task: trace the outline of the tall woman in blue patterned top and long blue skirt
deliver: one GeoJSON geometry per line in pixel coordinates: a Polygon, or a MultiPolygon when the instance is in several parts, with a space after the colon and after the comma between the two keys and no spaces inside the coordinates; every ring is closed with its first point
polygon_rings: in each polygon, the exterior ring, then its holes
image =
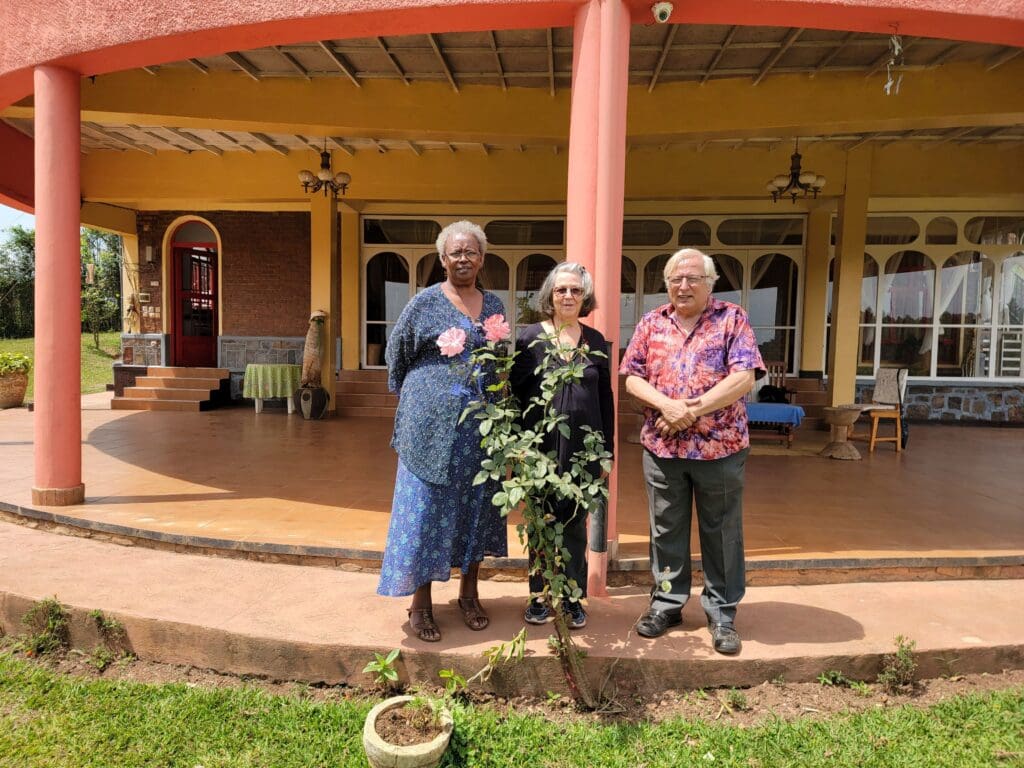
{"type": "Polygon", "coordinates": [[[409,624],[425,642],[441,638],[431,585],[446,582],[453,568],[462,571],[459,609],[466,626],[487,626],[477,571],[484,555],[504,556],[508,549],[505,521],[490,503],[495,488],[473,485],[483,459],[477,422],[459,423],[480,393],[459,362],[485,343],[482,322],[505,311],[501,299],[477,287],[486,250],[486,237],[476,224],[457,221],[441,230],[437,253],[445,280],[406,305],[385,355],[388,386],[398,393],[391,440],[398,474],[377,592],[413,596],[409,624]],[[452,328],[466,335],[465,349],[455,357],[438,345],[452,328]]]}

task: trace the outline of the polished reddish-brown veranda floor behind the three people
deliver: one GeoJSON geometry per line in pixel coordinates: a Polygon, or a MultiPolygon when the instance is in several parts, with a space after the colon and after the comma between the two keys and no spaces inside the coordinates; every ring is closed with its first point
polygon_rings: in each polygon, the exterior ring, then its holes
{"type": "MultiPolygon", "coordinates": [[[[371,557],[382,549],[395,473],[389,419],[109,408],[109,395],[83,397],[86,504],[41,511],[171,541],[371,557]]],[[[868,455],[861,443],[860,462],[818,458],[824,439],[798,432],[788,451],[756,443],[746,470],[750,561],[1024,562],[1024,430],[912,425],[906,452],[887,444],[868,455]]],[[[32,507],[32,440],[29,411],[0,412],[0,503],[8,510],[32,507]]],[[[620,558],[643,557],[637,445],[621,445],[618,478],[620,558]]],[[[511,524],[509,541],[517,556],[511,524]]]]}

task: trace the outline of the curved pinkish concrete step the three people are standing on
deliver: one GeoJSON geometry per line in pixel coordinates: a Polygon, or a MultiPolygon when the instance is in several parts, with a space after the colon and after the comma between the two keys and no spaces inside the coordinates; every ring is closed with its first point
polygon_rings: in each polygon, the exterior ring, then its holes
{"type": "MultiPolygon", "coordinates": [[[[422,643],[407,633],[408,598],[378,597],[376,584],[375,574],[343,568],[175,554],[0,523],[0,624],[11,634],[33,601],[56,596],[73,608],[73,637],[82,647],[95,642],[87,613],[98,608],[124,623],[142,658],[366,685],[361,670],[375,650],[400,648],[407,680],[436,683],[441,668],[475,671],[483,649],[523,626],[521,583],[482,583],[492,625],[471,632],[459,617],[453,581],[434,591],[443,640],[422,643]]],[[[807,681],[825,670],[872,679],[896,635],[916,641],[924,676],[1024,667],[1021,581],[752,588],[737,621],[744,641],[738,657],[712,651],[697,600],[682,627],[645,640],[632,632],[645,591],[611,592],[591,601],[590,624],[577,637],[594,680],[614,665],[620,697],[753,685],[779,675],[807,681]]],[[[549,634],[530,628],[527,657],[494,677],[497,689],[564,690],[547,650],[549,634]]]]}

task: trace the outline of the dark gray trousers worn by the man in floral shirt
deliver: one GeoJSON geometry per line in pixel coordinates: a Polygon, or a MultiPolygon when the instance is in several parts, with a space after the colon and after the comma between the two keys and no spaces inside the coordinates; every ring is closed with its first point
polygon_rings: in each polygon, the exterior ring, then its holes
{"type": "Polygon", "coordinates": [[[724,459],[659,459],[643,453],[650,511],[650,606],[678,611],[690,596],[690,523],[697,508],[708,621],[732,624],[743,598],[743,470],[750,449],[724,459]],[[668,584],[666,584],[668,583],[668,584]],[[668,588],[668,589],[666,589],[668,588]]]}

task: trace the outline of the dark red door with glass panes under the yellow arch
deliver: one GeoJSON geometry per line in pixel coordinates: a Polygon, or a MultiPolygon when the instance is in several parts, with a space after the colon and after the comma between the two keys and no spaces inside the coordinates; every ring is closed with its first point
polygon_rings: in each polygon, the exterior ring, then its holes
{"type": "Polygon", "coordinates": [[[174,248],[174,365],[217,365],[217,254],[213,246],[174,248]]]}

